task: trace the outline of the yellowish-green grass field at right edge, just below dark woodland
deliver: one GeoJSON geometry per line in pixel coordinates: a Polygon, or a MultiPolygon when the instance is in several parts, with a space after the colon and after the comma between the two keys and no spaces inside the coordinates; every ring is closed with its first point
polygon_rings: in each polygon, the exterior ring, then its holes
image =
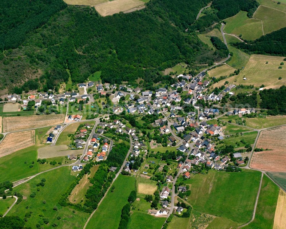
{"type": "Polygon", "coordinates": [[[269,128],[272,126],[278,126],[286,123],[286,116],[266,116],[258,117],[258,118],[245,118],[246,125],[255,128],[255,129],[263,129],[269,128]]]}

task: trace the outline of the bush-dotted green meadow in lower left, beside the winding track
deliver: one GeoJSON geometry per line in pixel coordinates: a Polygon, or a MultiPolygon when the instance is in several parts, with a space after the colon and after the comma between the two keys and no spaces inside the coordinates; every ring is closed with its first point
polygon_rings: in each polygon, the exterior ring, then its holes
{"type": "Polygon", "coordinates": [[[59,169],[49,171],[38,177],[35,177],[31,181],[17,186],[14,190],[20,192],[24,199],[18,205],[15,205],[8,215],[17,214],[20,218],[24,218],[27,212],[32,212],[31,217],[25,222],[26,227],[35,228],[35,225],[39,222],[43,214],[44,217],[48,218],[48,228],[52,228],[52,224],[56,223],[58,228],[83,228],[85,221],[88,218],[87,213],[76,211],[73,213],[73,209],[68,207],[61,207],[58,201],[75,177],[70,175],[70,167],[65,166],[59,169]],[[45,178],[45,186],[40,186],[40,191],[37,191],[36,184],[45,178]],[[35,197],[30,197],[30,194],[35,192],[35,197]],[[43,203],[45,201],[45,203],[43,203]],[[26,208],[28,206],[28,208],[26,208]],[[57,207],[57,211],[53,210],[57,207]],[[61,219],[57,220],[57,216],[61,219]]]}

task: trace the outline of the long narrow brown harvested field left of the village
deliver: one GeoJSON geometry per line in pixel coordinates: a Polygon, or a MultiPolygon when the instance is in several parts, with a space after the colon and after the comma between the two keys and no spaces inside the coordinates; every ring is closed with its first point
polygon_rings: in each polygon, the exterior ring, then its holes
{"type": "Polygon", "coordinates": [[[33,129],[62,123],[63,114],[14,116],[3,118],[3,132],[33,129]]]}

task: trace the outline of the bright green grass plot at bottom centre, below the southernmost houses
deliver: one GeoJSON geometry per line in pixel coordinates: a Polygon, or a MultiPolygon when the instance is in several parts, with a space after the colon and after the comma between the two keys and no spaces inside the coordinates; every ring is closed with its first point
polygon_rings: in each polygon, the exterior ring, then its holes
{"type": "MultiPolygon", "coordinates": [[[[128,223],[128,229],[160,229],[166,218],[154,217],[141,212],[133,212],[128,223]]],[[[110,228],[115,229],[115,228],[110,228]]]]}

